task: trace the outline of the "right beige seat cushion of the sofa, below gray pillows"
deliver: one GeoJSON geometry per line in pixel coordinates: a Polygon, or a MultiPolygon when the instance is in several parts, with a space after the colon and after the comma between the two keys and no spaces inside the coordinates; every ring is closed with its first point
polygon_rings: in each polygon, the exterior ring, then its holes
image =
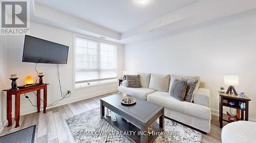
{"type": "Polygon", "coordinates": [[[147,101],[154,102],[166,108],[176,110],[197,118],[205,120],[211,119],[209,107],[186,101],[179,101],[166,92],[156,91],[155,93],[149,94],[147,95],[147,101]]]}

